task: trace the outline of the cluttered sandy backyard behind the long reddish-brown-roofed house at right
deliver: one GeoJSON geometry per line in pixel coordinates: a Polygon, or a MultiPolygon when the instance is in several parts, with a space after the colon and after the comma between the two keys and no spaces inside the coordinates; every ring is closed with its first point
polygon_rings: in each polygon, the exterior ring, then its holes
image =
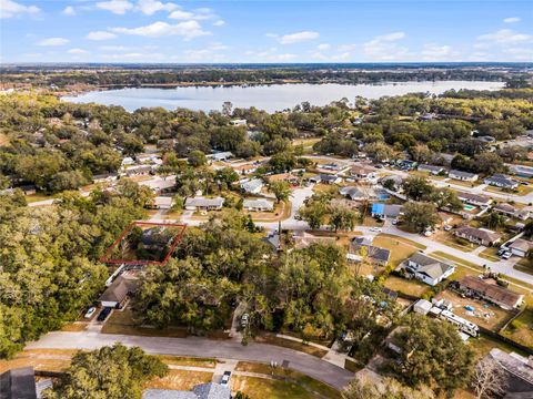
{"type": "Polygon", "coordinates": [[[462,298],[449,290],[439,294],[436,298],[450,300],[453,304],[455,315],[495,332],[513,317],[512,311],[504,310],[496,305],[489,304],[485,300],[462,298]],[[464,308],[465,306],[472,306],[475,310],[469,311],[464,308]]]}

